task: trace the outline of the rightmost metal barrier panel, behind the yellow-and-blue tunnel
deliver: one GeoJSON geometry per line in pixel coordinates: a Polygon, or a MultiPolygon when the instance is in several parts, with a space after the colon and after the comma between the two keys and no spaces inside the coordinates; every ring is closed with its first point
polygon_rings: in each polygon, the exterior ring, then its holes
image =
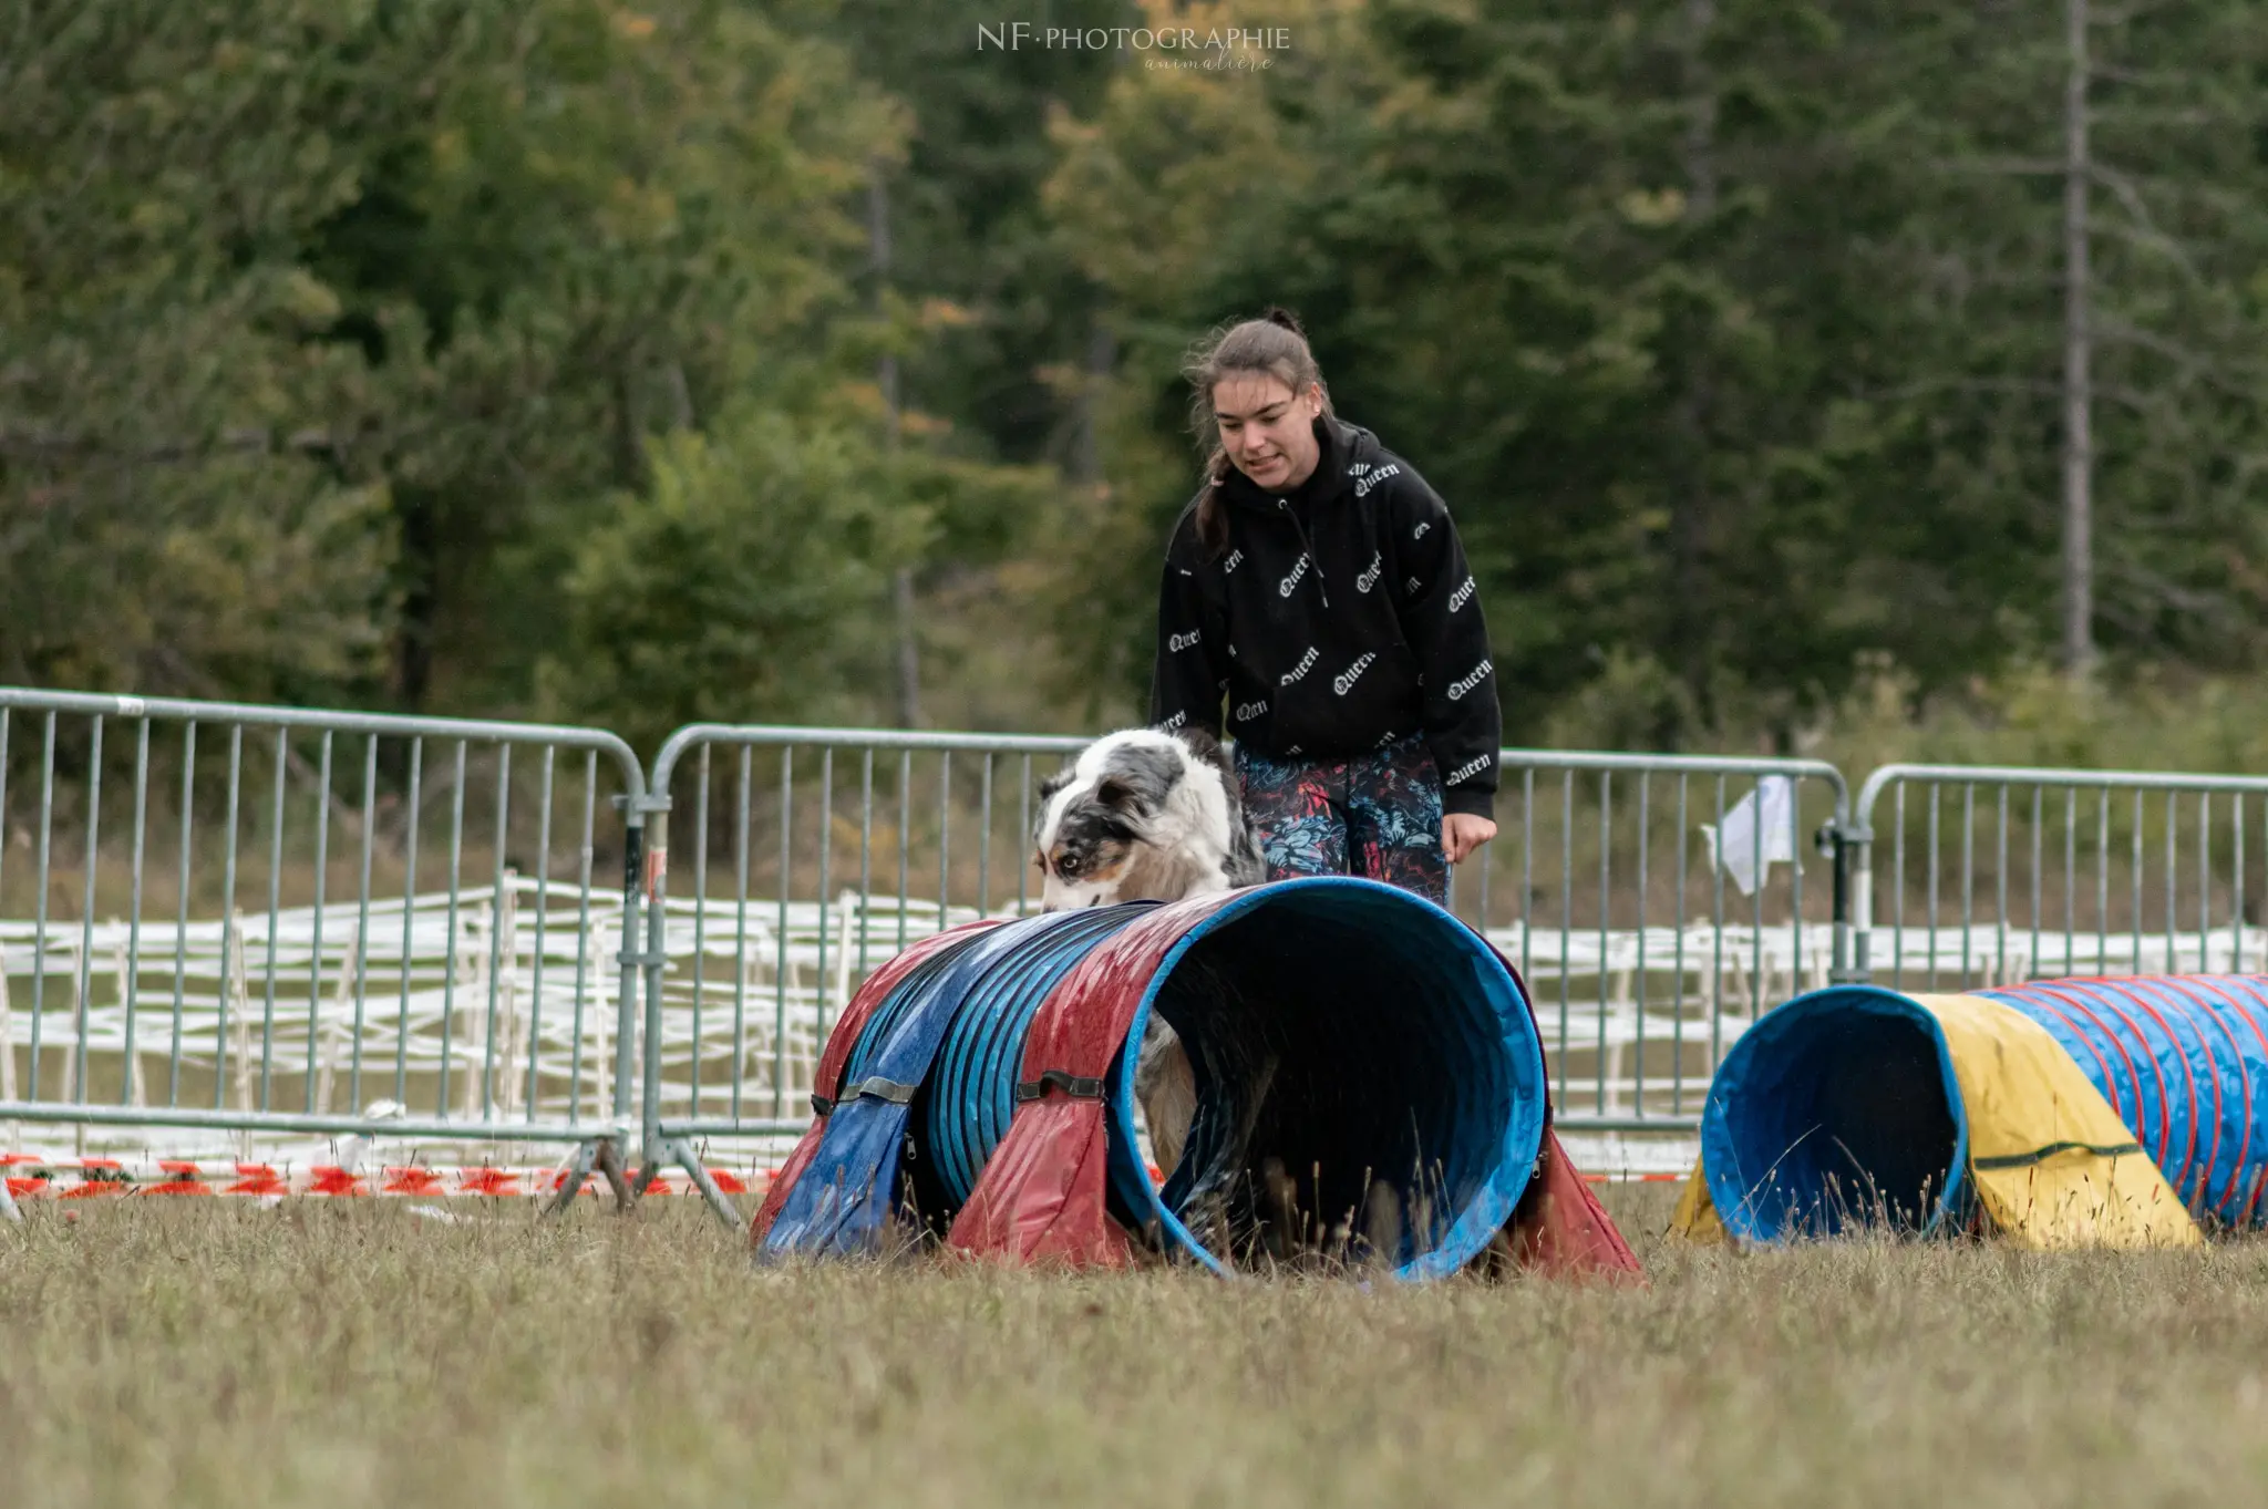
{"type": "Polygon", "coordinates": [[[1855,963],[1916,990],[2268,967],[2248,813],[2268,825],[2268,779],[1882,766],[1851,832],[1855,963]]]}

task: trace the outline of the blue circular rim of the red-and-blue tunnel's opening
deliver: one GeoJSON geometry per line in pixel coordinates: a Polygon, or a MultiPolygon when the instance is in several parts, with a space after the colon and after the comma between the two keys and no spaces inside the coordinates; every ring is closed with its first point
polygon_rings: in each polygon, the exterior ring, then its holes
{"type": "MultiPolygon", "coordinates": [[[[1399,886],[1388,886],[1356,875],[1304,875],[1297,879],[1268,881],[1266,886],[1238,890],[1234,893],[1234,900],[1193,922],[1188,931],[1173,940],[1173,947],[1157,961],[1157,967],[1150,970],[1150,979],[1143,983],[1141,999],[1134,1004],[1134,1015],[1127,1022],[1127,1035],[1118,1051],[1116,1081],[1109,1094],[1114,1140],[1129,1149],[1139,1146],[1134,1128],[1134,1072],[1141,1060],[1143,1033],[1150,1026],[1150,1011],[1175,967],[1202,938],[1261,906],[1279,904],[1281,897],[1295,890],[1383,893],[1393,897],[1393,904],[1397,906],[1415,906],[1420,915],[1427,915],[1433,924],[1447,924],[1442,936],[1454,940],[1463,954],[1479,965],[1479,974],[1486,983],[1497,986],[1501,981],[1501,990],[1488,990],[1488,999],[1495,1006],[1499,1029],[1495,1033],[1495,1042],[1504,1045],[1513,1060],[1508,1065],[1513,1115],[1506,1119],[1497,1146],[1499,1156],[1495,1171],[1481,1183],[1472,1199],[1465,1201],[1465,1208],[1456,1212],[1456,1219],[1447,1226],[1433,1248],[1417,1253],[1390,1271],[1393,1278],[1406,1282],[1447,1278],[1476,1258],[1488,1246],[1490,1237],[1495,1237],[1504,1224],[1513,1219],[1513,1208],[1526,1192],[1529,1180],[1535,1174],[1535,1160],[1542,1156],[1542,1140],[1549,1119],[1545,1112],[1549,1074],[1545,1067],[1542,1031],[1535,1026],[1535,1013],[1520,977],[1504,963],[1504,956],[1497,954],[1483,936],[1465,924],[1463,918],[1413,890],[1402,890],[1399,886]],[[1522,1083],[1522,1079],[1526,1079],[1526,1083],[1522,1083]],[[1522,1090],[1533,1090],[1533,1094],[1522,1094],[1522,1090]]],[[[1220,1258],[1216,1258],[1195,1237],[1195,1233],[1182,1224],[1182,1217],[1177,1217],[1159,1199],[1161,1192],[1150,1183],[1148,1171],[1139,1185],[1143,1205],[1136,1210],[1136,1217],[1157,1221],[1168,1237],[1168,1246],[1188,1253],[1211,1273],[1222,1278],[1238,1276],[1236,1269],[1220,1262],[1220,1258]]]]}

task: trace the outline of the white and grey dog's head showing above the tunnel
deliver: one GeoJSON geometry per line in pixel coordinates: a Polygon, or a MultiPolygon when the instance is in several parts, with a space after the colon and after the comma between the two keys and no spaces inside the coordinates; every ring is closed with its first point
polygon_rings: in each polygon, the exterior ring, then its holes
{"type": "Polygon", "coordinates": [[[1243,813],[1220,745],[1136,727],[1107,734],[1039,788],[1043,911],[1179,900],[1225,884],[1243,813]]]}

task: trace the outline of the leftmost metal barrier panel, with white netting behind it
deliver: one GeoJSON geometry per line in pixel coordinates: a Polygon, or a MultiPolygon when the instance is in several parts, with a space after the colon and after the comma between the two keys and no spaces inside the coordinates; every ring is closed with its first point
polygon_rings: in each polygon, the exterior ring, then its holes
{"type": "Polygon", "coordinates": [[[0,1128],[619,1178],[644,795],[599,730],[0,689],[0,1128]]]}

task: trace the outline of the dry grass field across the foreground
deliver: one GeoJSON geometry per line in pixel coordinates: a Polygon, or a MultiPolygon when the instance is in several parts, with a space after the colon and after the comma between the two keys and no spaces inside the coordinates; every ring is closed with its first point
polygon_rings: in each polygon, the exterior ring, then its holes
{"type": "Polygon", "coordinates": [[[0,1502],[2139,1504],[2268,1482],[2268,1244],[1662,1246],[1644,1291],[760,1273],[689,1203],[0,1228],[0,1502]]]}

